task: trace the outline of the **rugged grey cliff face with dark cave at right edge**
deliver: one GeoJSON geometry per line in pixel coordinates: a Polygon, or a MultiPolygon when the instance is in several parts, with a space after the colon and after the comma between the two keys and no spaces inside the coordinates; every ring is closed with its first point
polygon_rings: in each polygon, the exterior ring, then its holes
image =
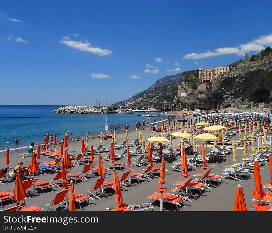
{"type": "Polygon", "coordinates": [[[270,103],[272,54],[239,63],[231,72],[220,75],[218,81],[218,86],[212,90],[215,100],[270,103]]]}

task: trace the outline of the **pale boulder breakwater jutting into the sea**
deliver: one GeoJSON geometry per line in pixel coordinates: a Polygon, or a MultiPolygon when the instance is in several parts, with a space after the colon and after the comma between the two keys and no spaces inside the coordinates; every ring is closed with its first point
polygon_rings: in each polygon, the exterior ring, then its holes
{"type": "Polygon", "coordinates": [[[92,106],[66,106],[57,108],[55,113],[72,113],[72,114],[91,114],[91,113],[106,113],[92,106]]]}

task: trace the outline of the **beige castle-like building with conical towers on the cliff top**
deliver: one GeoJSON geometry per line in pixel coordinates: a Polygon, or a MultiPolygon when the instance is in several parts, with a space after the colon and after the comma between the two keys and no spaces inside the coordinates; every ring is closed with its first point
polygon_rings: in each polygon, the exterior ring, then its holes
{"type": "Polygon", "coordinates": [[[218,78],[221,74],[229,72],[230,66],[211,67],[210,69],[202,69],[199,67],[199,82],[210,83],[213,78],[218,78]]]}

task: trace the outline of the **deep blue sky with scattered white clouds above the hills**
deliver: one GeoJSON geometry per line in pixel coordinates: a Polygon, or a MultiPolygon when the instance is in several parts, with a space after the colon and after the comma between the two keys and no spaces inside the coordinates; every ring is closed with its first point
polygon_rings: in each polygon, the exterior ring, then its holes
{"type": "Polygon", "coordinates": [[[114,104],[272,46],[270,1],[5,1],[0,104],[114,104]],[[217,13],[217,12],[220,13],[217,13]]]}

